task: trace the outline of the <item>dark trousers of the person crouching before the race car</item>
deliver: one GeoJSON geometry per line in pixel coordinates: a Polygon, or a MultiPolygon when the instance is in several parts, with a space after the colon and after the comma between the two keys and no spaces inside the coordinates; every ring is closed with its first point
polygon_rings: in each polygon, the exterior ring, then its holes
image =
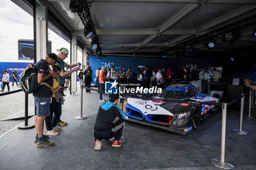
{"type": "Polygon", "coordinates": [[[108,140],[111,138],[115,138],[115,141],[118,141],[121,138],[121,134],[123,133],[124,130],[124,125],[125,122],[123,119],[119,119],[118,121],[116,121],[116,123],[113,123],[113,128],[110,131],[106,131],[106,132],[97,132],[94,131],[94,138],[95,141],[96,139],[102,140],[108,140]]]}

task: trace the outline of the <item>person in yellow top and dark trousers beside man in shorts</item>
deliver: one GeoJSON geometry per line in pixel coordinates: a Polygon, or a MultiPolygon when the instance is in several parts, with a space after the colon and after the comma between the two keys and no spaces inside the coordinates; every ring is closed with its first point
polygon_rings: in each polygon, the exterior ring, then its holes
{"type": "Polygon", "coordinates": [[[45,118],[47,135],[50,136],[56,136],[59,134],[58,131],[61,131],[61,127],[57,125],[61,116],[61,104],[63,104],[63,97],[60,93],[61,86],[57,78],[60,72],[61,68],[59,66],[53,66],[53,87],[50,89],[53,93],[53,98],[50,103],[50,115],[45,118]]]}

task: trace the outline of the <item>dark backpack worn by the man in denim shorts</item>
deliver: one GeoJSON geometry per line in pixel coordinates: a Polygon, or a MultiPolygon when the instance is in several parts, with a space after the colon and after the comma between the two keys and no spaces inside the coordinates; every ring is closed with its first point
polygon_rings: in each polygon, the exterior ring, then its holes
{"type": "Polygon", "coordinates": [[[34,93],[39,89],[39,85],[46,85],[51,88],[46,82],[37,83],[36,66],[29,63],[29,66],[20,74],[20,87],[25,93],[34,93]]]}

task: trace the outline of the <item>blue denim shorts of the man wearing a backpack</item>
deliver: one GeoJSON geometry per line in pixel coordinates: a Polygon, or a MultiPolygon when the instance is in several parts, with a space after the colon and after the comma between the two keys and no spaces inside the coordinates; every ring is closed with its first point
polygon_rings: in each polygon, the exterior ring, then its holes
{"type": "Polygon", "coordinates": [[[36,112],[38,117],[50,116],[50,100],[51,97],[34,96],[36,102],[36,112]]]}

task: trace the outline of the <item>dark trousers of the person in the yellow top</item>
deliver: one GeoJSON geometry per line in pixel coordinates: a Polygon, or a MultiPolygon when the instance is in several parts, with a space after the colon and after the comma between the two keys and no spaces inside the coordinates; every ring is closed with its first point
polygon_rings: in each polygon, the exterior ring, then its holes
{"type": "Polygon", "coordinates": [[[57,123],[59,123],[60,117],[61,117],[61,104],[57,103],[56,99],[53,98],[50,104],[50,116],[46,117],[45,119],[46,129],[48,131],[52,130],[57,125],[57,123]]]}

